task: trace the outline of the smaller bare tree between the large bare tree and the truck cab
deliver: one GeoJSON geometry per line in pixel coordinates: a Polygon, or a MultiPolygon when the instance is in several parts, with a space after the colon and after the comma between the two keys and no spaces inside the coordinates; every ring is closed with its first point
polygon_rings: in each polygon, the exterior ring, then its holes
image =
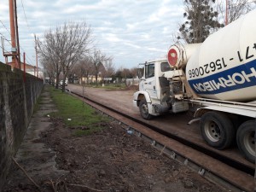
{"type": "Polygon", "coordinates": [[[91,61],[95,69],[96,85],[98,85],[98,75],[100,72],[105,70],[103,63],[111,60],[107,55],[102,54],[102,51],[99,49],[94,49],[93,54],[91,55],[91,61]]]}

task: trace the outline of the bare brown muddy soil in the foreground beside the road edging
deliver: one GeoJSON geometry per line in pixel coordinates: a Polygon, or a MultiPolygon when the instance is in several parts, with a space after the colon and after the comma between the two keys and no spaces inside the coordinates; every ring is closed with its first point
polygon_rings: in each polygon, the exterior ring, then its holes
{"type": "MultiPolygon", "coordinates": [[[[38,142],[55,151],[57,168],[68,172],[58,178],[32,177],[41,191],[226,191],[115,122],[102,124],[103,131],[90,136],[75,137],[73,131],[86,128],[69,128],[61,119],[49,120],[52,124],[38,142]]],[[[3,191],[38,190],[14,165],[3,191]]]]}

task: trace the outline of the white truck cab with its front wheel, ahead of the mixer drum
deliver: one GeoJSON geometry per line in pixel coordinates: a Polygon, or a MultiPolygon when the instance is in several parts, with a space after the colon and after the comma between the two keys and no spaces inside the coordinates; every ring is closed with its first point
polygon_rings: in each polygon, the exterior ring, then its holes
{"type": "Polygon", "coordinates": [[[139,107],[143,119],[189,110],[188,102],[182,100],[186,95],[183,77],[183,71],[170,67],[166,58],[143,64],[139,91],[133,95],[134,106],[139,107]]]}

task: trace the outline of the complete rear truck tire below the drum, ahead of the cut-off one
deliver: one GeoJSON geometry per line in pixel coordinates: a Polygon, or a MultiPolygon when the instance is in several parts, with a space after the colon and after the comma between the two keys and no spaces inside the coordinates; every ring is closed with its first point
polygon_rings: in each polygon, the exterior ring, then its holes
{"type": "Polygon", "coordinates": [[[234,125],[225,113],[204,113],[200,126],[201,136],[213,148],[228,148],[236,137],[234,125]]]}

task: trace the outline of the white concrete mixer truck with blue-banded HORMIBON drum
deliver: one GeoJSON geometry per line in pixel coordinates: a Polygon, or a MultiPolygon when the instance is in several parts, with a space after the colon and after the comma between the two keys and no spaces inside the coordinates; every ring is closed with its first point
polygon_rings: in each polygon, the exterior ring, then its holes
{"type": "Polygon", "coordinates": [[[143,63],[133,95],[143,119],[194,110],[212,147],[236,140],[255,161],[256,10],[210,35],[202,44],[174,44],[166,58],[143,63]]]}

